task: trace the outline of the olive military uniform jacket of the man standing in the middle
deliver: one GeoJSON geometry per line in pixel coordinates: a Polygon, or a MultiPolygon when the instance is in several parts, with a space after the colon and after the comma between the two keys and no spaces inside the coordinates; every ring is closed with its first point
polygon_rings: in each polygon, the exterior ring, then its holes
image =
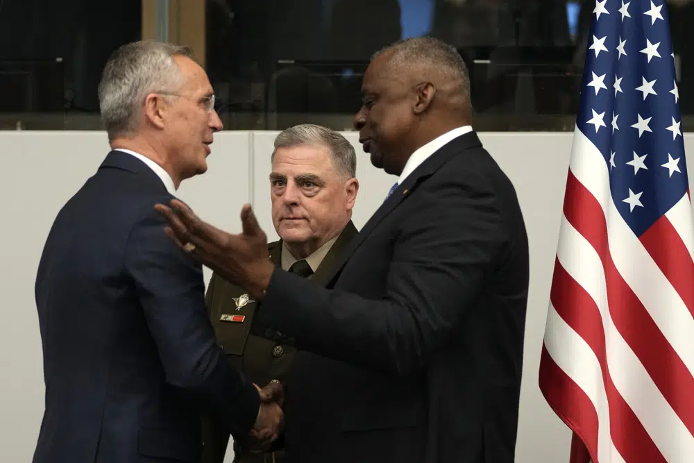
{"type": "MultiPolygon", "coordinates": [[[[357,228],[350,221],[332,244],[330,251],[325,254],[319,267],[310,276],[314,285],[325,286],[328,283],[328,278],[341,258],[342,251],[356,235],[357,228]]],[[[268,244],[268,251],[273,264],[281,268],[282,240],[268,244]]],[[[278,335],[270,332],[267,337],[264,337],[251,330],[258,305],[251,299],[238,308],[235,298],[239,298],[244,293],[241,287],[223,280],[217,273],[212,275],[206,298],[214,334],[233,367],[243,371],[249,380],[259,386],[264,386],[273,379],[279,380],[285,387],[286,394],[289,391],[287,378],[296,349],[291,344],[292,340],[283,338],[281,333],[278,335]],[[234,321],[235,319],[231,318],[233,315],[244,317],[244,319],[234,321]]],[[[228,432],[215,426],[214,422],[206,416],[203,417],[203,441],[205,448],[202,463],[222,463],[229,441],[228,432]]],[[[267,455],[267,460],[281,461],[284,456],[283,448],[284,439],[280,436],[272,449],[274,455],[267,455]]],[[[264,455],[244,455],[243,458],[239,458],[240,453],[238,446],[235,446],[235,460],[242,463],[264,462],[266,459],[264,455]]]]}

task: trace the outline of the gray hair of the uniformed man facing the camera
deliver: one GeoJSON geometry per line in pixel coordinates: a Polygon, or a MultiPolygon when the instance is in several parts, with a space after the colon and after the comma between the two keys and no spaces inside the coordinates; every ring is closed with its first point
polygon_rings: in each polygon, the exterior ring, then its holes
{"type": "Polygon", "coordinates": [[[275,138],[275,149],[270,160],[275,159],[278,148],[291,148],[303,144],[325,146],[330,150],[330,160],[340,176],[357,175],[357,153],[354,146],[339,132],[315,124],[299,124],[280,132],[275,138]]]}

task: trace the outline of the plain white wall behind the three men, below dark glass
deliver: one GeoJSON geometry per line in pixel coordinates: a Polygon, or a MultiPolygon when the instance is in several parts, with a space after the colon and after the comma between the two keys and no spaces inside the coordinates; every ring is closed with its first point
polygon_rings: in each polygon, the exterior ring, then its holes
{"type": "MultiPolygon", "coordinates": [[[[269,155],[274,132],[231,132],[215,137],[209,170],[179,190],[212,224],[239,232],[239,211],[253,203],[260,224],[275,239],[269,214],[269,155]]],[[[374,169],[357,143],[359,196],[354,221],[361,228],[396,178],[374,169]]],[[[555,259],[559,218],[572,142],[570,133],[482,133],[482,142],[513,180],[530,239],[530,295],[525,335],[516,461],[565,463],[570,432],[537,386],[539,355],[555,259]]],[[[686,135],[688,152],[694,135],[686,135]]],[[[58,209],[108,152],[100,132],[0,132],[3,201],[0,235],[0,461],[30,462],[43,410],[41,339],[33,284],[44,239],[58,209]]],[[[691,164],[691,162],[690,162],[691,164]]],[[[690,167],[690,176],[694,169],[690,167]]],[[[210,272],[206,271],[206,278],[210,272]]],[[[231,462],[231,453],[227,462],[231,462]]]]}

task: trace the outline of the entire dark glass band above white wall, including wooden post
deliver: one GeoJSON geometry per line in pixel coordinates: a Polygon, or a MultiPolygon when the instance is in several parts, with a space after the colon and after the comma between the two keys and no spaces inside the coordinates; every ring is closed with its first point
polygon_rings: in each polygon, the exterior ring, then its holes
{"type": "MultiPolygon", "coordinates": [[[[0,7],[0,128],[101,128],[108,54],[140,38],[189,45],[226,129],[346,130],[371,55],[433,35],[468,65],[480,131],[572,131],[595,0],[23,0],[0,7]]],[[[694,2],[671,0],[682,126],[694,126],[694,2]]]]}

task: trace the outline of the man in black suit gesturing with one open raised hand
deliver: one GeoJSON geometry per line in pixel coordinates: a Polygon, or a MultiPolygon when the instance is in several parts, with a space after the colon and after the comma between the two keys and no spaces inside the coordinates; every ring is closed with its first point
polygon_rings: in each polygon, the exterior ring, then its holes
{"type": "Polygon", "coordinates": [[[371,60],[362,94],[364,151],[398,180],[325,287],[273,267],[248,206],[230,235],[158,205],[167,233],[259,301],[259,330],[295,339],[289,462],[512,463],[527,234],[473,131],[464,62],[439,40],[398,42],[371,60]]]}

